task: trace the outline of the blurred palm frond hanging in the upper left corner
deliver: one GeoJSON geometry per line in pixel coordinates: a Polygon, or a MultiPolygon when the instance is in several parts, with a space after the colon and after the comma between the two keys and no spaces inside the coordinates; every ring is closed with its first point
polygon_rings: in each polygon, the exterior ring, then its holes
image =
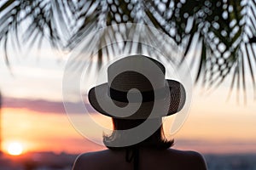
{"type": "Polygon", "coordinates": [[[70,4],[61,0],[3,0],[0,3],[0,42],[7,43],[8,37],[15,32],[19,47],[20,39],[22,43],[30,42],[32,45],[47,38],[52,47],[64,48],[70,37],[67,26],[68,15],[72,14],[70,4]],[[25,27],[25,31],[22,32],[20,27],[25,27]]]}

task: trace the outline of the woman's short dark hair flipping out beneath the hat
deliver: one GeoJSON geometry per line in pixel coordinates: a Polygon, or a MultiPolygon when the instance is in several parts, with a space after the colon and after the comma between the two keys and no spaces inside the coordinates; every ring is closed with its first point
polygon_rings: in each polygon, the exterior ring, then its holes
{"type": "MultiPolygon", "coordinates": [[[[126,120],[126,119],[112,118],[112,121],[113,121],[113,130],[127,130],[133,127],[139,126],[146,120],[144,119],[126,120]]],[[[139,142],[138,144],[133,144],[131,146],[126,146],[126,147],[113,147],[112,146],[113,143],[118,142],[118,140],[122,138],[119,135],[116,135],[116,133],[114,132],[110,136],[103,135],[103,143],[108,147],[108,149],[111,149],[111,150],[131,148],[134,146],[149,147],[149,148],[155,148],[155,149],[170,148],[173,145],[174,140],[173,139],[167,140],[165,138],[161,118],[154,119],[154,120],[151,119],[149,121],[151,121],[152,123],[160,123],[160,127],[147,139],[144,139],[142,142],[139,142]]]]}

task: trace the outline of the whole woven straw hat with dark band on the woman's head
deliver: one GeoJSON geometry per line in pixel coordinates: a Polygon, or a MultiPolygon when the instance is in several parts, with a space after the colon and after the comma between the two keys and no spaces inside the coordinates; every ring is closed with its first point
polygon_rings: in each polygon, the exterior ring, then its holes
{"type": "Polygon", "coordinates": [[[180,82],[165,79],[166,69],[156,59],[132,55],[108,67],[108,82],[90,88],[90,105],[105,116],[147,119],[181,111],[186,100],[180,82]]]}

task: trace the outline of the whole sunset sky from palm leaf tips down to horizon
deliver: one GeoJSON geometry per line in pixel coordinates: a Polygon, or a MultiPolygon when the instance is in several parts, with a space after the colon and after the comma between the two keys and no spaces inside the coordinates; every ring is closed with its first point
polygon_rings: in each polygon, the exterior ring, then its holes
{"type": "MultiPolygon", "coordinates": [[[[3,57],[0,59],[3,150],[12,141],[23,144],[25,151],[81,153],[104,148],[85,139],[63,108],[62,76],[67,56],[49,48],[42,48],[40,56],[36,50],[29,54],[12,51],[10,69],[3,57]]],[[[175,148],[202,153],[256,153],[253,89],[247,88],[246,105],[242,100],[236,102],[236,91],[226,101],[229,80],[212,94],[202,94],[201,86],[193,88],[189,116],[172,136],[175,148]]],[[[106,122],[104,116],[93,116],[106,122]]]]}

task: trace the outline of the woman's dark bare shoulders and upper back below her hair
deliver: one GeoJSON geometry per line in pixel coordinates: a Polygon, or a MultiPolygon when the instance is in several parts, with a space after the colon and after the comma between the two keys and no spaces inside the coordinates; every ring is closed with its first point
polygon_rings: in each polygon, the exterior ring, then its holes
{"type": "MultiPolygon", "coordinates": [[[[125,150],[102,150],[80,155],[73,170],[133,170],[134,160],[125,160],[125,150]]],[[[206,170],[203,157],[195,151],[140,149],[140,170],[206,170]]]]}

